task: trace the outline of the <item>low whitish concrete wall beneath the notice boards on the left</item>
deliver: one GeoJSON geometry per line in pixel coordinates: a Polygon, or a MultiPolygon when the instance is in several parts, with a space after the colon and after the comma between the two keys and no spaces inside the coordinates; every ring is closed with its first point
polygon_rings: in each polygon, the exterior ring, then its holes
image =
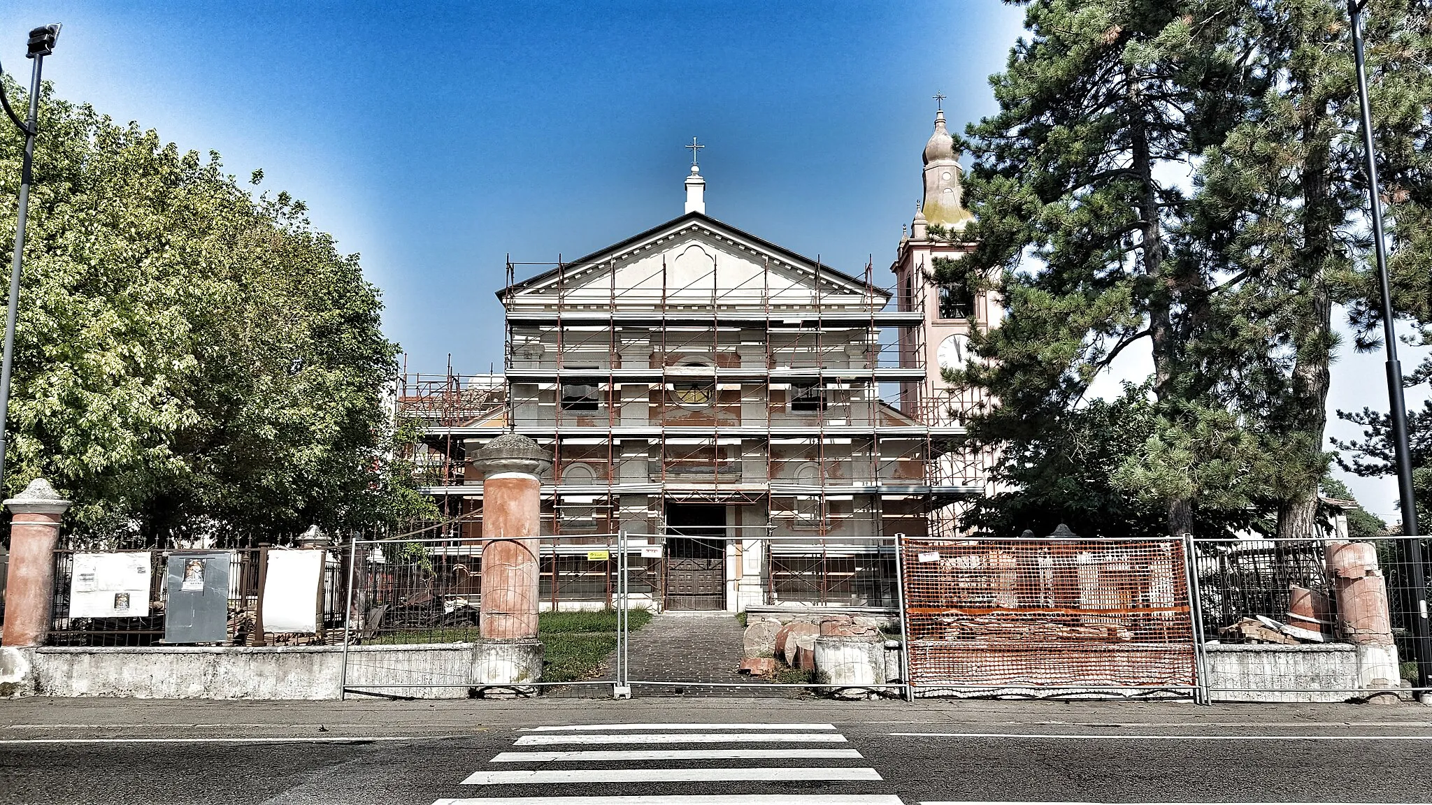
{"type": "MultiPolygon", "coordinates": [[[[490,646],[349,646],[348,688],[418,699],[465,699],[473,688],[507,683],[511,669],[523,682],[540,678],[540,643],[536,650],[513,643],[490,646]],[[407,688],[424,683],[442,686],[407,688]]],[[[0,649],[0,695],[337,699],[342,667],[342,646],[0,649]]]]}

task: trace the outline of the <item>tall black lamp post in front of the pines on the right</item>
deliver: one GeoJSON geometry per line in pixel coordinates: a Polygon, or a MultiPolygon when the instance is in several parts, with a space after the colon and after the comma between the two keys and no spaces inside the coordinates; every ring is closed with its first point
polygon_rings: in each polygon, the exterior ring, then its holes
{"type": "Polygon", "coordinates": [[[1348,0],[1352,17],[1352,49],[1358,66],[1358,100],[1362,106],[1362,149],[1368,160],[1368,196],[1372,206],[1372,241],[1378,258],[1378,285],[1382,291],[1382,341],[1388,350],[1388,398],[1392,408],[1392,445],[1398,463],[1398,497],[1402,503],[1402,533],[1406,540],[1412,582],[1412,637],[1416,646],[1418,688],[1432,676],[1432,630],[1428,629],[1428,582],[1422,566],[1422,531],[1412,497],[1412,455],[1408,445],[1408,405],[1402,394],[1402,364],[1398,362],[1398,337],[1392,329],[1392,288],[1388,284],[1388,246],[1382,233],[1382,191],[1378,188],[1378,160],[1372,152],[1372,105],[1368,103],[1368,69],[1362,56],[1362,10],[1368,0],[1348,0]]]}

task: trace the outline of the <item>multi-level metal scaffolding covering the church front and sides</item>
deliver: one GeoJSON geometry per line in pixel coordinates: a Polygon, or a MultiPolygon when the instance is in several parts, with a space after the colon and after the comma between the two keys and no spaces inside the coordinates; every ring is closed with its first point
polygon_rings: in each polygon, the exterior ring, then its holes
{"type": "MultiPolygon", "coordinates": [[[[955,533],[987,460],[951,447],[964,433],[951,413],[978,403],[931,390],[922,295],[879,288],[869,262],[853,276],[818,258],[792,282],[789,262],[753,255],[723,274],[722,256],[700,272],[666,255],[640,269],[630,255],[508,261],[503,374],[398,384],[400,418],[422,423],[415,464],[442,536],[481,534],[465,455],[504,428],[551,448],[543,533],[577,543],[666,533],[673,503],[725,504],[727,529],[829,537],[846,556],[856,534],[955,533]]],[[[792,574],[869,564],[812,550],[823,559],[762,561],[762,586],[779,566],[783,587],[826,596],[829,579],[792,574]]]]}

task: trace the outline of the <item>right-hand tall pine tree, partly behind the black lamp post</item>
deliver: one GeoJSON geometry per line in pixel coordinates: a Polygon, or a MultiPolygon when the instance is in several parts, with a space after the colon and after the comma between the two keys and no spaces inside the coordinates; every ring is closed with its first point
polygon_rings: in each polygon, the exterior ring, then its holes
{"type": "MultiPolygon", "coordinates": [[[[1346,6],[1333,0],[1266,0],[1250,7],[1256,21],[1237,34],[1260,54],[1272,85],[1206,155],[1201,232],[1242,281],[1217,299],[1217,329],[1250,354],[1264,344],[1264,371],[1240,388],[1240,405],[1259,421],[1266,451],[1277,458],[1266,466],[1277,533],[1307,537],[1319,531],[1317,490],[1329,463],[1326,403],[1339,347],[1333,307],[1349,307],[1363,347],[1375,341],[1366,334],[1380,319],[1352,36],[1346,6]]],[[[1416,185],[1428,166],[1421,148],[1432,105],[1428,16],[1412,3],[1376,3],[1370,14],[1373,130],[1379,150],[1388,152],[1385,175],[1396,188],[1389,221],[1403,235],[1395,259],[1402,274],[1399,302],[1411,302],[1422,317],[1429,262],[1421,223],[1428,219],[1428,195],[1402,188],[1416,185]],[[1423,278],[1421,301],[1412,288],[1416,276],[1423,278]]]]}

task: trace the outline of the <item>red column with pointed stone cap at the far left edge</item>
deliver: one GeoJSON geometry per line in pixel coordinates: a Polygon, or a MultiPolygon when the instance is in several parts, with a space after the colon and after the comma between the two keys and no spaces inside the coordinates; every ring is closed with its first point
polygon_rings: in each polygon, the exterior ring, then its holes
{"type": "Polygon", "coordinates": [[[54,603],[54,546],[60,517],[70,507],[44,478],[34,478],[10,510],[10,572],[6,577],[4,635],[7,647],[43,646],[54,603]]]}

